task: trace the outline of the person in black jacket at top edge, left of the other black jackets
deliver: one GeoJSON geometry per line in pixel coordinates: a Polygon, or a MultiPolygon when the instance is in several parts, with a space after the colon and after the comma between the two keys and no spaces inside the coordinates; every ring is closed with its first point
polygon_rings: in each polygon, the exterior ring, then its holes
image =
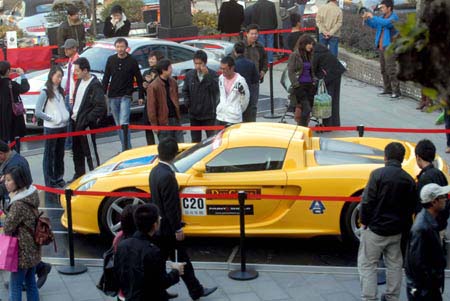
{"type": "MultiPolygon", "coordinates": [[[[244,22],[244,7],[236,0],[223,2],[220,6],[217,29],[221,33],[238,33],[244,22]]],[[[239,37],[226,37],[226,40],[237,41],[239,37]]]]}

